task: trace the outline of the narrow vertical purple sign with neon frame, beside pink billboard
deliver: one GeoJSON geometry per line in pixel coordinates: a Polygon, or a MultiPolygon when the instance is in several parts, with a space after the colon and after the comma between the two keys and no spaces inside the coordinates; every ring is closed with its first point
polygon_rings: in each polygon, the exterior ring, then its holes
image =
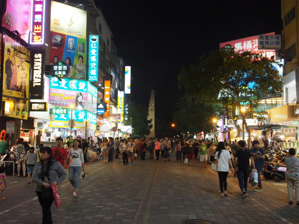
{"type": "Polygon", "coordinates": [[[30,44],[43,44],[45,33],[45,0],[32,0],[30,44]]]}

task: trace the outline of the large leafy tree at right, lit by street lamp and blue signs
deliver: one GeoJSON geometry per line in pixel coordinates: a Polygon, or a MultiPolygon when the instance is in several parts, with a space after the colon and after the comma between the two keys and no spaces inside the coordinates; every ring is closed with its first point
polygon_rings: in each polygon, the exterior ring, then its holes
{"type": "Polygon", "coordinates": [[[223,47],[202,56],[197,65],[183,67],[178,76],[179,87],[184,86],[186,95],[199,102],[237,108],[250,139],[245,118],[258,107],[264,94],[282,92],[281,78],[273,63],[274,60],[260,53],[236,52],[234,47],[223,47]],[[244,104],[246,110],[242,111],[244,104]]]}

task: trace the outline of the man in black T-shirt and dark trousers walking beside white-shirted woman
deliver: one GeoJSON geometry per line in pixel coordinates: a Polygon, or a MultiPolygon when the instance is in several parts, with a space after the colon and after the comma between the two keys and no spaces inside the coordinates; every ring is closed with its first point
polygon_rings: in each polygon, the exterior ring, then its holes
{"type": "Polygon", "coordinates": [[[246,142],[243,140],[238,142],[239,150],[237,150],[235,154],[234,162],[234,168],[236,168],[236,164],[238,162],[237,177],[239,181],[239,187],[242,191],[242,199],[247,197],[246,191],[249,177],[249,159],[251,160],[253,168],[255,168],[251,152],[245,148],[245,145],[246,142]]]}

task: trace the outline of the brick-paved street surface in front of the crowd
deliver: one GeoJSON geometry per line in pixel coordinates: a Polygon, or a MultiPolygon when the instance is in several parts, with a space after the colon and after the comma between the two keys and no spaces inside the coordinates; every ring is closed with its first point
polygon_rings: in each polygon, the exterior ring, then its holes
{"type": "MultiPolygon", "coordinates": [[[[173,155],[172,155],[173,156],[173,155]]],[[[123,166],[87,163],[77,197],[66,179],[60,188],[62,207],[52,205],[54,223],[181,223],[186,219],[214,223],[299,223],[299,206],[288,205],[286,183],[263,180],[263,192],[248,185],[241,199],[237,177],[228,176],[228,197],[219,196],[216,172],[176,161],[138,160],[123,166]]],[[[5,200],[0,202],[0,223],[41,223],[35,184],[27,178],[7,178],[5,200]]]]}

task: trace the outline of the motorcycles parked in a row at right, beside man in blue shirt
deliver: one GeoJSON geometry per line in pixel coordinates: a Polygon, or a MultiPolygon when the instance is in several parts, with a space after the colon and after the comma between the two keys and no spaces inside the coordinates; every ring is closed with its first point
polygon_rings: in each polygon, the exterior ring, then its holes
{"type": "Polygon", "coordinates": [[[265,167],[262,171],[265,179],[274,179],[276,182],[286,179],[284,160],[288,152],[289,149],[280,150],[278,146],[265,150],[265,167]]]}

